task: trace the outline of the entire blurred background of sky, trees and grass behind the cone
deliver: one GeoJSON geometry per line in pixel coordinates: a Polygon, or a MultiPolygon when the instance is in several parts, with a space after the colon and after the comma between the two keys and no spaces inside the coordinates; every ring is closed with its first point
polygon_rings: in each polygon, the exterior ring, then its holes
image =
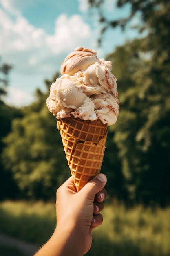
{"type": "Polygon", "coordinates": [[[170,254],[169,29],[167,0],[0,0],[0,255],[31,255],[55,228],[70,170],[46,98],[79,46],[112,61],[120,102],[86,255],[170,254]]]}

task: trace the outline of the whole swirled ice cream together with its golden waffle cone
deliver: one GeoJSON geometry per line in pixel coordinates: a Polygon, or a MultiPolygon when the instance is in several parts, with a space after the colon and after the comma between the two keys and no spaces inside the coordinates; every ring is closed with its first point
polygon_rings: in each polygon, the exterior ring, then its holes
{"type": "Polygon", "coordinates": [[[100,172],[107,126],[119,115],[117,79],[110,61],[78,47],[61,65],[46,104],[58,119],[64,151],[77,191],[100,172]]]}

